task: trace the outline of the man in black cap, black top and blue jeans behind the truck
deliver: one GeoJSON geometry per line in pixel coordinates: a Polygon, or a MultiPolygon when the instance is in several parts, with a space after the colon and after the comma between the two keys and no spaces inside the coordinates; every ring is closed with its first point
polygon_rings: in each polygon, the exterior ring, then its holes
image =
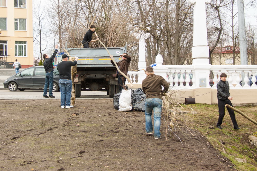
{"type": "Polygon", "coordinates": [[[75,61],[68,61],[66,54],[62,55],[62,62],[57,65],[59,72],[59,86],[61,92],[61,108],[71,108],[70,104],[72,80],[71,80],[71,66],[75,66],[78,62],[78,57],[75,57],[75,61]]]}

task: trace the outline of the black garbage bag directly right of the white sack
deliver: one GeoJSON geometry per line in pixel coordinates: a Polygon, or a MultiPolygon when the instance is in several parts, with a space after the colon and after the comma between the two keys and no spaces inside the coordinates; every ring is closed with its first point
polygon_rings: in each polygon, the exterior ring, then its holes
{"type": "MultiPolygon", "coordinates": [[[[134,90],[132,98],[132,110],[145,112],[145,99],[146,95],[144,94],[141,88],[134,90]]],[[[132,97],[132,96],[131,96],[132,97]]]]}

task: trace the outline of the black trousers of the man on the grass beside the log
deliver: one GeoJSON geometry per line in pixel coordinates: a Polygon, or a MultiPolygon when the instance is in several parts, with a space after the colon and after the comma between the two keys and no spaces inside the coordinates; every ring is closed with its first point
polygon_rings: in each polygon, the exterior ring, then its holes
{"type": "MultiPolygon", "coordinates": [[[[220,100],[220,99],[218,99],[219,119],[218,119],[217,126],[221,126],[221,124],[222,124],[222,120],[223,120],[223,118],[225,116],[225,105],[226,104],[229,104],[230,106],[233,106],[229,99],[227,99],[227,100],[220,100]]],[[[229,113],[229,116],[230,116],[230,118],[232,120],[232,123],[233,123],[234,127],[238,127],[238,125],[236,123],[236,117],[235,117],[234,110],[232,110],[232,109],[227,107],[227,111],[229,113]]]]}

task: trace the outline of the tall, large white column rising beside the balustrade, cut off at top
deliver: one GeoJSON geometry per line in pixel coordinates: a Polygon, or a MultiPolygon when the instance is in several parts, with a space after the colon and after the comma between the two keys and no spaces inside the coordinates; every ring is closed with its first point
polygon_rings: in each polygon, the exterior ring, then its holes
{"type": "Polygon", "coordinates": [[[207,46],[207,27],[205,2],[210,0],[188,0],[194,4],[194,34],[192,47],[192,65],[195,67],[195,87],[209,88],[209,47],[207,46]]]}

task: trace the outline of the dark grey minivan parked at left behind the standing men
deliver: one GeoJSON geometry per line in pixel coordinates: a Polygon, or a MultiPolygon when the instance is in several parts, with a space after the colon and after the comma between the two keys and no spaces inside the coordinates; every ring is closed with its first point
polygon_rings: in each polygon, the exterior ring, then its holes
{"type": "MultiPolygon", "coordinates": [[[[26,88],[44,88],[45,69],[44,66],[32,66],[7,78],[4,81],[4,88],[14,92],[17,89],[23,91],[26,88]]],[[[59,72],[57,68],[53,70],[53,92],[59,89],[59,72]]]]}

